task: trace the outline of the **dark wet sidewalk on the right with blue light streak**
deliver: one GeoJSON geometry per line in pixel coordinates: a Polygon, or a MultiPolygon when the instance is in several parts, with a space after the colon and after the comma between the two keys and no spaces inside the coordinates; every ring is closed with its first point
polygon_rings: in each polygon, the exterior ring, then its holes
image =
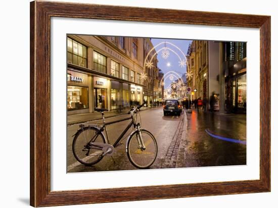
{"type": "Polygon", "coordinates": [[[246,145],[224,141],[209,136],[206,130],[217,136],[246,141],[246,115],[219,114],[193,110],[187,113],[187,131],[181,141],[184,167],[246,164],[246,145]]]}

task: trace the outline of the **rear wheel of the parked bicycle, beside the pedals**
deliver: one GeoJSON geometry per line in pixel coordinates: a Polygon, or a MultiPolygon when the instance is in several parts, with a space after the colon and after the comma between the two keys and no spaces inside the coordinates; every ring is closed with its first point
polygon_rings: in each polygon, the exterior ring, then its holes
{"type": "Polygon", "coordinates": [[[103,134],[97,134],[97,132],[98,129],[95,127],[84,127],[77,132],[73,139],[73,155],[82,164],[96,164],[103,158],[102,150],[89,147],[89,142],[101,142],[106,144],[103,134]]]}

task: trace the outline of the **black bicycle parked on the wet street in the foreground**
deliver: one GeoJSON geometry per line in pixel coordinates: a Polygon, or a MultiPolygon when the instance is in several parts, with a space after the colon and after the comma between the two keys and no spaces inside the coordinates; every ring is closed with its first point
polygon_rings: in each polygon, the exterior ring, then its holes
{"type": "Polygon", "coordinates": [[[101,161],[106,155],[112,156],[115,153],[115,148],[122,144],[121,141],[126,132],[133,127],[133,132],[126,140],[125,150],[128,159],[138,169],[149,168],[157,157],[158,147],[153,134],[142,129],[140,122],[136,123],[137,113],[145,104],[144,102],[142,105],[130,109],[128,112],[131,115],[130,117],[111,122],[105,122],[104,111],[108,111],[108,109],[95,108],[96,111],[101,112],[103,124],[81,123],[79,125],[80,129],[73,135],[72,143],[72,151],[75,158],[84,165],[93,165],[101,161]],[[106,126],[129,119],[131,119],[130,123],[114,144],[111,145],[106,126]],[[106,137],[103,134],[104,131],[106,137]]]}

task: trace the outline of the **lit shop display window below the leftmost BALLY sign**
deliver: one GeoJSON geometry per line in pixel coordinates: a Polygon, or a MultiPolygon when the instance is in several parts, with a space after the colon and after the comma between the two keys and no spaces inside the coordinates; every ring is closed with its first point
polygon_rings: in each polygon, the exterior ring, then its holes
{"type": "Polygon", "coordinates": [[[68,110],[88,108],[88,87],[68,86],[67,108],[68,110]]]}

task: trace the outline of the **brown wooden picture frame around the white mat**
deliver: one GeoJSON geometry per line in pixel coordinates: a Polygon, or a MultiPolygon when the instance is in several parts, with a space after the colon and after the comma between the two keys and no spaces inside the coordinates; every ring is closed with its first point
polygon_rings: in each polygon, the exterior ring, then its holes
{"type": "Polygon", "coordinates": [[[240,194],[270,191],[270,17],[259,15],[30,3],[30,204],[51,206],[240,194]],[[51,17],[144,21],[260,29],[260,179],[163,186],[51,191],[50,24],[51,17]]]}

